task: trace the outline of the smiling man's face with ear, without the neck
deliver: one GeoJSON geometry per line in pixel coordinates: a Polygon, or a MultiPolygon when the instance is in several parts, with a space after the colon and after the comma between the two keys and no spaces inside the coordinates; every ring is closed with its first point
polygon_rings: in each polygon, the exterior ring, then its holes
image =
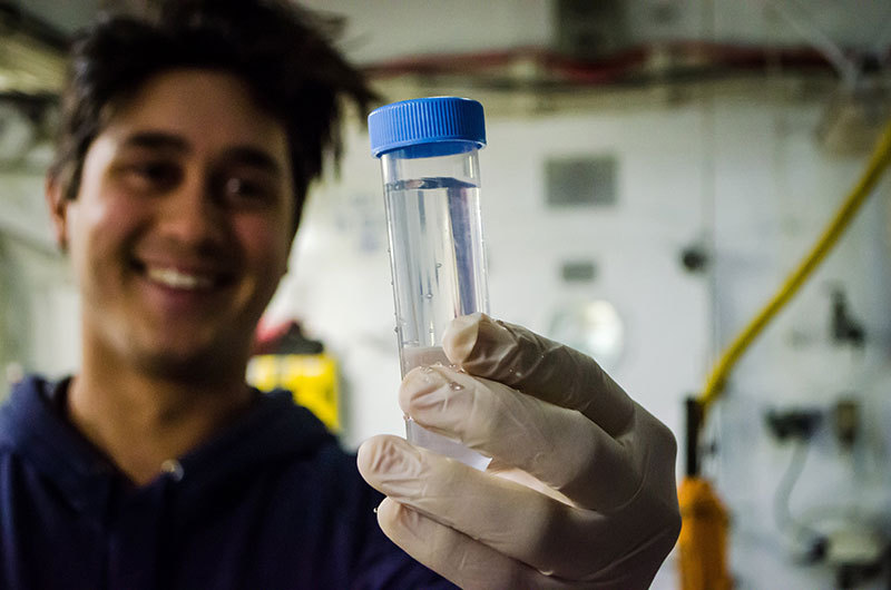
{"type": "Polygon", "coordinates": [[[49,191],[82,296],[85,362],[243,374],[286,269],[288,154],[284,128],[227,73],[159,73],[112,115],[77,198],[49,191]]]}

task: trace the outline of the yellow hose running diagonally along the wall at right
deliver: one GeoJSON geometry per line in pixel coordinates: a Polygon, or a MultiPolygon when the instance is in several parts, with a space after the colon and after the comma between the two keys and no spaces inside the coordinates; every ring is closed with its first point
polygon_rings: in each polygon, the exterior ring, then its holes
{"type": "Polygon", "coordinates": [[[870,157],[869,165],[863,176],[856,183],[853,190],[851,190],[851,194],[844,199],[835,217],[833,217],[823,230],[814,248],[804,257],[801,265],[786,277],[785,283],[776,295],[774,295],[767,305],[758,312],[755,318],[752,319],[745,330],[736,336],[733,343],[721,355],[721,358],[708,375],[705,390],[699,397],[703,412],[706,412],[712,403],[722,394],[727,381],[727,375],[730,375],[745,350],[748,348],[776,313],[799,291],[811,273],[823,262],[823,258],[825,258],[826,254],[839,240],[839,237],[848,228],[854,214],[860,209],[863,201],[866,200],[866,197],[881,178],[889,163],[891,163],[891,122],[885,127],[884,131],[882,131],[882,136],[870,157]]]}

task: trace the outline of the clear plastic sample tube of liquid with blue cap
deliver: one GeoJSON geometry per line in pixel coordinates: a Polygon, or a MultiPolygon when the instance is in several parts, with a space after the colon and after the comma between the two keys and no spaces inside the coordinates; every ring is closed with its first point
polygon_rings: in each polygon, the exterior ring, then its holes
{"type": "MultiPolygon", "coordinates": [[[[369,116],[381,159],[396,336],[402,376],[449,364],[442,335],[461,315],[488,313],[479,205],[482,105],[458,97],[418,98],[369,116]]],[[[407,417],[408,439],[477,469],[489,462],[407,417]]]]}

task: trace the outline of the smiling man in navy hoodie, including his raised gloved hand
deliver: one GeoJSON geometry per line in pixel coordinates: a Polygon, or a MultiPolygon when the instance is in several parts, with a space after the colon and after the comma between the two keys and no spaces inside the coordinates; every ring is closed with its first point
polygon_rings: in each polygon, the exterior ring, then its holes
{"type": "Polygon", "coordinates": [[[351,456],[246,385],[341,102],[372,100],[322,28],[170,0],[75,43],[47,199],[82,366],[0,410],[0,588],[646,588],[677,535],[675,443],[594,360],[454,322],[460,368],[415,370],[400,403],[486,472],[394,436],[351,456]]]}

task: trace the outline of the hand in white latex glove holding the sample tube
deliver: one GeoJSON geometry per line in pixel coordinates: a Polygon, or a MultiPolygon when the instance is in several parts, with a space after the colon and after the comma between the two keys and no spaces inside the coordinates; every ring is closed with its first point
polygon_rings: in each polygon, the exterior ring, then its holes
{"type": "Polygon", "coordinates": [[[365,441],[384,533],[464,589],[647,588],[681,528],[670,431],[591,358],[522,327],[461,317],[443,350],[457,366],[411,371],[400,405],[493,459],[481,472],[365,441]]]}

